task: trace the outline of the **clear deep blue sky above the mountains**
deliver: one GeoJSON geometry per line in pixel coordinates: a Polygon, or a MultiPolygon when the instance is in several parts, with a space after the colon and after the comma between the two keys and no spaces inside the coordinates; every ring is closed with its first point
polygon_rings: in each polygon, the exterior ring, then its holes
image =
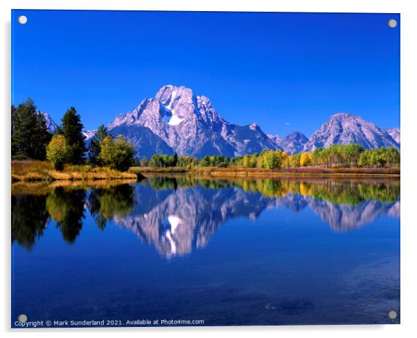
{"type": "Polygon", "coordinates": [[[238,12],[12,12],[12,103],[32,97],[86,129],[164,84],[210,97],[230,122],[310,136],[330,115],[399,126],[399,15],[238,12]],[[26,25],[17,17],[26,15],[26,25]]]}

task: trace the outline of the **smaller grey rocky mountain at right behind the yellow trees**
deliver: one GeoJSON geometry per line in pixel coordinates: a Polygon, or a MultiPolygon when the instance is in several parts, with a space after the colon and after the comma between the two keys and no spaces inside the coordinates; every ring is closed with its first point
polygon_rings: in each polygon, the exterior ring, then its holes
{"type": "Polygon", "coordinates": [[[312,151],[318,147],[330,147],[332,144],[357,143],[366,149],[379,147],[399,148],[387,131],[366,122],[360,116],[349,113],[337,113],[330,116],[329,122],[323,123],[321,129],[314,131],[303,151],[312,151]]]}

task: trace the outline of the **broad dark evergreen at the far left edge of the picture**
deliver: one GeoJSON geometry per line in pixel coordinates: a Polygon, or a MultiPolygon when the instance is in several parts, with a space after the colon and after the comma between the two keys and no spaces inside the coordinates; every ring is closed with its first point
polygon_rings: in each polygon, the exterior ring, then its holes
{"type": "Polygon", "coordinates": [[[19,158],[44,160],[51,133],[42,113],[36,112],[33,100],[28,99],[12,108],[12,154],[19,158]]]}

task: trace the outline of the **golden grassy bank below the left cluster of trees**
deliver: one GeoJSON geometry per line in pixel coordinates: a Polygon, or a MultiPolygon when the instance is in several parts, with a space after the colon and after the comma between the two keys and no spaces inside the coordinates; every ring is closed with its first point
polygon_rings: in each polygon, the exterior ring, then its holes
{"type": "Polygon", "coordinates": [[[136,180],[138,174],[90,165],[65,165],[62,171],[46,161],[12,161],[12,182],[53,182],[55,180],[136,180]]]}

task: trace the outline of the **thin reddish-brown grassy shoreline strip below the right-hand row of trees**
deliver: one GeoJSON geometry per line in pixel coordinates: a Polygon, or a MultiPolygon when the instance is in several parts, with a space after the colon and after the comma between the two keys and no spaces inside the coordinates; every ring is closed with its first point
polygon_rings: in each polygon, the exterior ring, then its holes
{"type": "Polygon", "coordinates": [[[246,167],[131,167],[129,171],[134,173],[188,173],[208,176],[232,176],[232,177],[256,177],[256,176],[400,176],[399,168],[321,168],[321,167],[297,167],[285,169],[260,169],[246,167]]]}

